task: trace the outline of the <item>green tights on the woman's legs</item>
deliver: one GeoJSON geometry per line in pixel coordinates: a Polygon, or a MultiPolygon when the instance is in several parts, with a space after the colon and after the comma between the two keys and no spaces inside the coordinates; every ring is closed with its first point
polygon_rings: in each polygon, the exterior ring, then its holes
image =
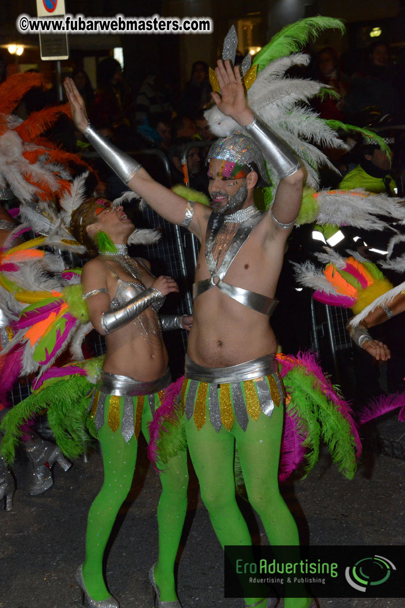
{"type": "MultiPolygon", "coordinates": [[[[104,424],[98,432],[103,452],[104,483],[90,506],[86,533],[86,559],[83,564],[83,579],[87,593],[96,601],[107,599],[111,595],[103,578],[103,554],[120,506],[131,488],[138,447],[135,436],[132,436],[128,443],[124,440],[121,425],[112,432],[107,423],[108,402],[107,397],[104,424]]],[[[157,395],[155,395],[155,405],[159,405],[157,395]]],[[[123,398],[120,399],[120,423],[122,416],[123,398]]],[[[148,399],[145,398],[141,431],[148,442],[148,423],[151,420],[151,409],[148,399]]],[[[157,508],[158,562],[154,574],[162,601],[174,601],[177,599],[174,562],[187,508],[188,471],[185,452],[179,452],[168,465],[162,467],[160,482],[162,493],[157,508]]]]}

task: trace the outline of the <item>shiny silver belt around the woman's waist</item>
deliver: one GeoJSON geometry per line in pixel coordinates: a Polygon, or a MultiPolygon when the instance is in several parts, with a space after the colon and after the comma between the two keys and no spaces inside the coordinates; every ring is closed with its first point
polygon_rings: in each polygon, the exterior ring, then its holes
{"type": "Polygon", "coordinates": [[[163,376],[151,382],[143,382],[134,380],[134,378],[130,378],[129,376],[120,376],[118,374],[111,374],[108,371],[101,371],[96,382],[96,390],[107,395],[136,397],[138,395],[151,395],[151,393],[157,393],[160,390],[166,389],[171,381],[169,368],[167,368],[163,376]]]}

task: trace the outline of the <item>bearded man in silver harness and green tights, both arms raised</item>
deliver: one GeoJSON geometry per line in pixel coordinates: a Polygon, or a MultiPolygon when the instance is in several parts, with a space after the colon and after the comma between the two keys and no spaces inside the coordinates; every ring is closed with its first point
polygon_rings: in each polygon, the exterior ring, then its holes
{"type": "MultiPolygon", "coordinates": [[[[186,357],[186,435],[203,502],[222,546],[250,545],[234,488],[234,443],[251,505],[271,544],[298,545],[293,516],[279,494],[277,466],[283,425],[283,389],[268,319],[285,242],[301,206],[304,170],[290,148],[254,117],[239,69],[218,62],[220,111],[240,132],[209,153],[213,211],[155,182],[134,159],[100,137],[87,122],[72,80],[65,87],[72,116],[103,159],[163,218],[188,227],[201,242],[194,285],[194,322],[186,357]],[[256,184],[266,183],[263,156],[280,178],[274,204],[254,206],[256,184]]],[[[285,598],[285,608],[307,608],[309,598],[285,598]]],[[[273,606],[245,598],[245,606],[273,606]]]]}

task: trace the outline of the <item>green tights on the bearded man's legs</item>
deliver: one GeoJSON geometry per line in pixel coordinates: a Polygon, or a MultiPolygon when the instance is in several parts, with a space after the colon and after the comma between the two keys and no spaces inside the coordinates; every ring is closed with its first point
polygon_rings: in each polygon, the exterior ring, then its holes
{"type": "MultiPolygon", "coordinates": [[[[186,435],[200,492],[214,531],[224,545],[251,545],[251,536],[235,497],[234,444],[236,441],[243,478],[251,506],[263,522],[271,545],[299,545],[298,529],[278,487],[278,464],[284,411],[274,407],[271,418],[260,413],[249,419],[247,430],[237,424],[231,431],[222,426],[217,433],[206,420],[198,430],[191,417],[186,435]]],[[[245,598],[254,604],[260,598],[245,598]]],[[[267,600],[258,608],[266,606],[267,600]]],[[[285,598],[285,608],[307,608],[307,598],[285,598]]]]}

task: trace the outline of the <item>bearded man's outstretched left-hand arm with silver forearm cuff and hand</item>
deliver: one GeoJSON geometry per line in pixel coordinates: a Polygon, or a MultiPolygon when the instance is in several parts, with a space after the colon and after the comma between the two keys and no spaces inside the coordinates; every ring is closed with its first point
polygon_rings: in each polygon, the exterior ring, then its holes
{"type": "Polygon", "coordinates": [[[173,224],[189,227],[200,236],[200,219],[207,219],[209,209],[196,202],[186,201],[159,184],[129,154],[124,153],[106,138],[100,136],[87,120],[86,106],[72,78],[64,81],[72,118],[78,130],[87,137],[101,158],[131,190],[141,196],[159,215],[173,224]],[[194,210],[194,218],[193,218],[194,210]]]}

